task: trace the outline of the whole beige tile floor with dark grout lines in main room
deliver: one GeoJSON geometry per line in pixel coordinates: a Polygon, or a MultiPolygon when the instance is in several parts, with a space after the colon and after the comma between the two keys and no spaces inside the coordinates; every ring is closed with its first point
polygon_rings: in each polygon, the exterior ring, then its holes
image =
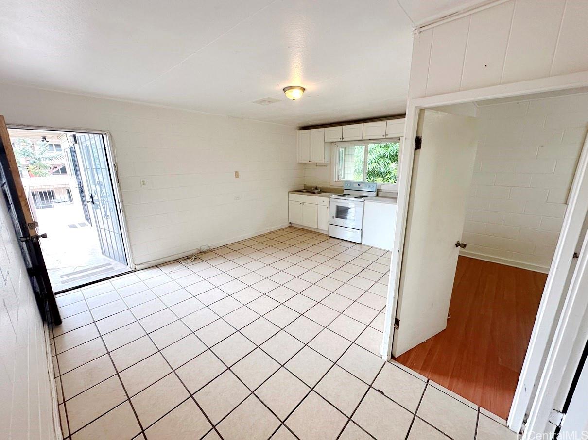
{"type": "Polygon", "coordinates": [[[515,439],[377,356],[389,264],[286,228],[58,296],[64,438],[515,439]]]}

